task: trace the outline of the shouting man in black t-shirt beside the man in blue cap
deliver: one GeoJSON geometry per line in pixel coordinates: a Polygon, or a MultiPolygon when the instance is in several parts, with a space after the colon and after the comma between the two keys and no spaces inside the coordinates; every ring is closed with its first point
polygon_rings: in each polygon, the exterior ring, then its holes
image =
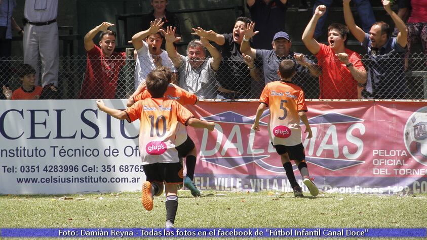
{"type": "Polygon", "coordinates": [[[247,17],[238,17],[231,33],[218,34],[212,30],[205,31],[201,27],[193,28],[193,35],[206,37],[220,45],[222,63],[219,67],[217,76],[219,84],[225,89],[218,92],[217,99],[250,99],[251,94],[251,75],[255,80],[258,77],[256,68],[248,68],[240,52],[245,26],[251,20],[247,17]]]}

